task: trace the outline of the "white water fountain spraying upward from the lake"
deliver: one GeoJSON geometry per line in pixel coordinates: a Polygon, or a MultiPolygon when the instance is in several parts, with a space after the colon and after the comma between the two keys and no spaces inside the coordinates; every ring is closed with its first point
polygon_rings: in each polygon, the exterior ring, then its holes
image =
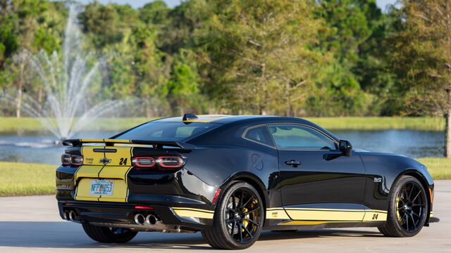
{"type": "Polygon", "coordinates": [[[21,103],[25,114],[36,117],[45,129],[59,139],[70,138],[80,129],[98,117],[104,117],[120,108],[125,100],[104,100],[94,105],[87,105],[89,91],[94,77],[99,74],[102,59],[94,58],[93,53],[82,53],[82,32],[78,15],[81,8],[70,4],[68,22],[63,41],[62,55],[45,51],[33,55],[30,51],[21,51],[16,61],[27,61],[32,74],[37,75],[44,91],[45,102],[42,105],[27,94],[23,99],[4,93],[13,103],[21,103]],[[94,59],[94,60],[93,60],[94,59]]]}

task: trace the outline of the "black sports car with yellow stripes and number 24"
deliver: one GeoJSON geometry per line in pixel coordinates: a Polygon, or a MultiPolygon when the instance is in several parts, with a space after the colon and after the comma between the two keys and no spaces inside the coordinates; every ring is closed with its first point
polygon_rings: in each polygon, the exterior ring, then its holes
{"type": "Polygon", "coordinates": [[[368,226],[406,237],[434,219],[423,164],[353,149],[304,119],[188,114],[63,144],[61,218],[99,242],[201,231],[212,247],[244,249],[262,230],[368,226]]]}

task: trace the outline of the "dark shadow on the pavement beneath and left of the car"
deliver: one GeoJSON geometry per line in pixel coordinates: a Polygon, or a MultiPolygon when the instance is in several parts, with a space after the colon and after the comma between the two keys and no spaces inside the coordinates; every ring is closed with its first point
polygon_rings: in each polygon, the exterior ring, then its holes
{"type": "MultiPolygon", "coordinates": [[[[376,232],[336,229],[307,230],[296,232],[264,231],[259,240],[286,240],[321,237],[376,237],[376,232]]],[[[87,237],[82,226],[67,221],[0,221],[0,247],[61,248],[61,249],[207,249],[200,233],[138,233],[124,244],[94,242],[87,237]]]]}

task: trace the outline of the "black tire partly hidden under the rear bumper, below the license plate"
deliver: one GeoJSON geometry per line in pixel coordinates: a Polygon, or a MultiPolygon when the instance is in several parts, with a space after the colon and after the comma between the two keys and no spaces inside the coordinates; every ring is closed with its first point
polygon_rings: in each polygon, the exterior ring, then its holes
{"type": "Polygon", "coordinates": [[[97,242],[124,243],[132,240],[137,234],[128,228],[109,228],[89,223],[82,223],[82,226],[87,236],[97,242]]]}

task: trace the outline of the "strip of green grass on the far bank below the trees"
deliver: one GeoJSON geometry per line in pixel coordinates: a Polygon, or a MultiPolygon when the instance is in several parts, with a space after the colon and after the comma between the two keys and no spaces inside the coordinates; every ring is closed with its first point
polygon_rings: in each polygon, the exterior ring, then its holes
{"type": "MultiPolygon", "coordinates": [[[[137,124],[142,124],[155,118],[126,117],[94,119],[87,129],[121,131],[137,124]]],[[[445,119],[441,117],[307,117],[325,129],[415,129],[438,130],[445,129],[445,119]]],[[[44,127],[39,120],[30,117],[0,117],[0,132],[40,131],[44,127]]]]}

